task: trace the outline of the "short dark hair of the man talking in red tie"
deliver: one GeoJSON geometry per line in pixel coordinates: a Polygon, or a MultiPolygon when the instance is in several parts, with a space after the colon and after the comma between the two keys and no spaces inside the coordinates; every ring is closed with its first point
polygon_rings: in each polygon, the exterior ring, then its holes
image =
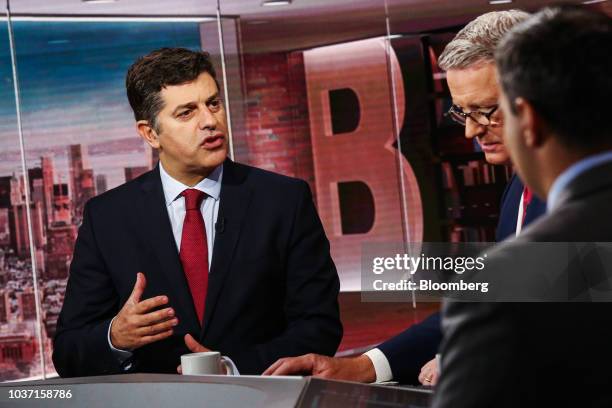
{"type": "Polygon", "coordinates": [[[181,85],[207,72],[219,84],[210,55],[186,48],[160,48],[140,57],[128,69],[125,87],[134,118],[146,120],[159,131],[157,114],[163,108],[161,90],[169,85],[181,85]]]}

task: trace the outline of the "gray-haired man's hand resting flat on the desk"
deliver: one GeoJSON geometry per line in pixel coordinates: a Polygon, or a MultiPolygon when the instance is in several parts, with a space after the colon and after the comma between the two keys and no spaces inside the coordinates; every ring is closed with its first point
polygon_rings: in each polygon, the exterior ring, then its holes
{"type": "Polygon", "coordinates": [[[374,364],[366,355],[333,358],[319,354],[281,358],[263,375],[313,375],[315,377],[357,382],[376,381],[374,364]]]}

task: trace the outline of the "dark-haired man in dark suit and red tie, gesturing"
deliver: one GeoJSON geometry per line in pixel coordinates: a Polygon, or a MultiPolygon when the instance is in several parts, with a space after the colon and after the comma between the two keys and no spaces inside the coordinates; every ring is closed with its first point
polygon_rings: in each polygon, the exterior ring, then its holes
{"type": "Polygon", "coordinates": [[[218,350],[241,374],[333,355],[339,279],[308,185],[227,159],[209,56],[154,51],[128,71],[158,166],[84,210],[54,341],[63,376],[176,373],[218,350]]]}

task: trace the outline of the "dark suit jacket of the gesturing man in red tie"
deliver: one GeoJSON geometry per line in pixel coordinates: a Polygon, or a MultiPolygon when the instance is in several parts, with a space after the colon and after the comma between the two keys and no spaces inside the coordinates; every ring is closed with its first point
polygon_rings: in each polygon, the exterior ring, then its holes
{"type": "Polygon", "coordinates": [[[174,334],[134,351],[129,372],[176,373],[183,336],[228,355],[242,374],[281,357],[333,355],[342,338],[339,280],[304,181],[227,160],[219,229],[200,325],[174,242],[159,169],[85,206],[57,324],[62,377],[125,372],[107,341],[111,319],[146,275],[143,299],[167,295],[174,334]]]}

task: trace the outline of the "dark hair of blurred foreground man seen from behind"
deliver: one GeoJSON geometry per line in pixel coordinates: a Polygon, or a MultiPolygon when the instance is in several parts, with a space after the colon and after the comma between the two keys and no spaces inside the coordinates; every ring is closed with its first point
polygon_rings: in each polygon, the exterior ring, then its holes
{"type": "Polygon", "coordinates": [[[610,17],[576,6],[543,9],[508,33],[495,59],[513,111],[522,97],[566,146],[610,144],[610,17]]]}

